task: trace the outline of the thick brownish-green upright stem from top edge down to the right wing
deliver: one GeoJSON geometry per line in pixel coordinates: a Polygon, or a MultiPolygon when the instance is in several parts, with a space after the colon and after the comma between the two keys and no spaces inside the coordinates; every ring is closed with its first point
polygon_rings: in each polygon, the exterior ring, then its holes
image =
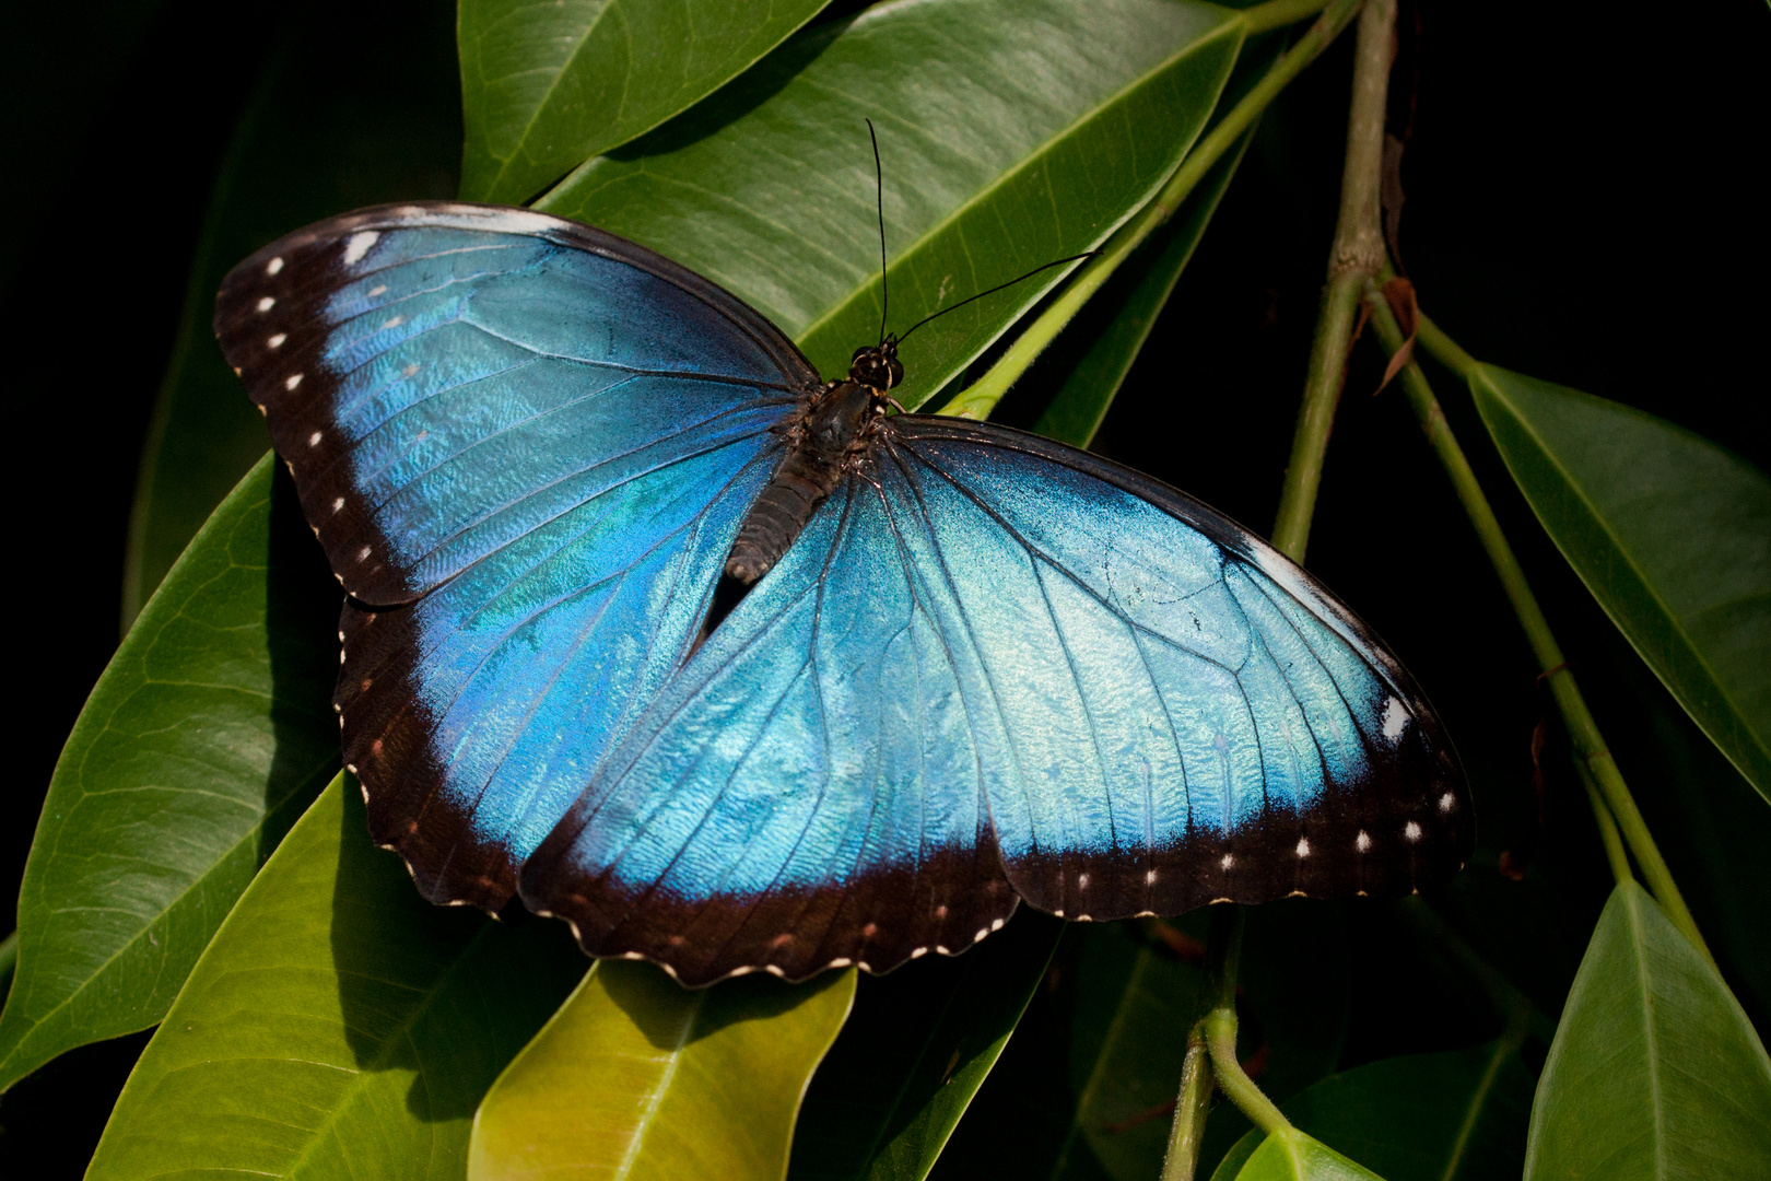
{"type": "Polygon", "coordinates": [[[1346,354],[1353,338],[1353,315],[1371,276],[1383,266],[1383,235],[1378,193],[1383,182],[1383,108],[1388,97],[1390,51],[1396,0],[1371,0],[1358,18],[1353,50],[1353,101],[1346,120],[1346,166],[1341,172],[1341,218],[1328,251],[1328,283],[1316,317],[1311,367],[1298,405],[1298,428],[1291,437],[1291,460],[1279,498],[1273,547],[1303,563],[1316,515],[1316,490],[1334,411],[1346,381],[1346,354]]]}

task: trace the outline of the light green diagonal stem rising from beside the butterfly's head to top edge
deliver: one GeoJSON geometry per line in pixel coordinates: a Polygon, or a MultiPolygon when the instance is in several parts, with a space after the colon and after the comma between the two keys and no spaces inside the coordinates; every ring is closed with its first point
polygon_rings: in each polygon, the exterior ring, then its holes
{"type": "MultiPolygon", "coordinates": [[[[1070,283],[1057,294],[1052,305],[1034,319],[1027,329],[1015,338],[1002,358],[990,367],[990,372],[979,377],[972,386],[962,390],[947,405],[940,407],[939,413],[953,414],[956,418],[985,420],[990,418],[990,411],[995,404],[1002,400],[1027,367],[1032,365],[1048,343],[1063,331],[1077,312],[1082,310],[1094,292],[1098,292],[1119,264],[1130,257],[1139,244],[1149,237],[1164,221],[1174,216],[1174,211],[1181,207],[1187,195],[1194,191],[1199,181],[1204,179],[1211,166],[1236,145],[1236,140],[1247,131],[1254,120],[1266,110],[1266,104],[1286,89],[1286,85],[1296,78],[1305,66],[1316,60],[1316,55],[1328,48],[1328,42],[1346,28],[1346,23],[1358,11],[1362,0],[1334,0],[1321,14],[1321,18],[1311,25],[1309,32],[1298,37],[1298,42],[1286,51],[1279,62],[1273,64],[1266,76],[1254,85],[1249,94],[1243,96],[1236,106],[1224,115],[1218,124],[1206,133],[1194,151],[1187,154],[1169,182],[1162,186],[1162,191],[1151,200],[1144,209],[1137,212],[1126,225],[1107,239],[1100,253],[1089,259],[1082,267],[1077,269],[1070,283]]],[[[1289,0],[1275,0],[1275,5],[1284,5],[1289,11],[1293,5],[1289,0]]],[[[1280,7],[1261,5],[1249,9],[1243,19],[1250,19],[1250,14],[1259,14],[1263,9],[1272,9],[1272,12],[1282,11],[1280,7]]],[[[1263,18],[1264,19],[1264,18],[1263,18]]],[[[1254,27],[1250,25],[1250,30],[1254,27]]]]}

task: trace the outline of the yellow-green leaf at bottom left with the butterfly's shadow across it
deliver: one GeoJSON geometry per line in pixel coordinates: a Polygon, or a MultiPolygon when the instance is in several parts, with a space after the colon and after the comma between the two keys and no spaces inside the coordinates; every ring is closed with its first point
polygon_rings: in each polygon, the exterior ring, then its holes
{"type": "Polygon", "coordinates": [[[338,776],[191,970],[87,1177],[460,1177],[475,1105],[583,972],[556,922],[420,898],[338,776]]]}

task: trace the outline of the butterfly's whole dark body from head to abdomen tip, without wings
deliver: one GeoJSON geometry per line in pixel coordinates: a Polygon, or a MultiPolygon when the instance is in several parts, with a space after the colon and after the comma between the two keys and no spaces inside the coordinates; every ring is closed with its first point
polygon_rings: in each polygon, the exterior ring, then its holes
{"type": "Polygon", "coordinates": [[[749,586],[781,560],[818,505],[868,452],[891,405],[887,390],[903,379],[898,342],[855,349],[847,381],[809,395],[786,423],[786,452],[751,505],[726,574],[749,586]]]}

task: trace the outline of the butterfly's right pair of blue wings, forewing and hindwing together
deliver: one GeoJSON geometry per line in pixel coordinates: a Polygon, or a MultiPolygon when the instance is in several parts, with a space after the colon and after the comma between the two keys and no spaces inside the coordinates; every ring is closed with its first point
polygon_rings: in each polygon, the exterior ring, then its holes
{"type": "Polygon", "coordinates": [[[1406,892],[1449,742],[1383,645],[1190,498],[900,416],[535,852],[522,896],[687,983],[1071,919],[1406,892]]]}

